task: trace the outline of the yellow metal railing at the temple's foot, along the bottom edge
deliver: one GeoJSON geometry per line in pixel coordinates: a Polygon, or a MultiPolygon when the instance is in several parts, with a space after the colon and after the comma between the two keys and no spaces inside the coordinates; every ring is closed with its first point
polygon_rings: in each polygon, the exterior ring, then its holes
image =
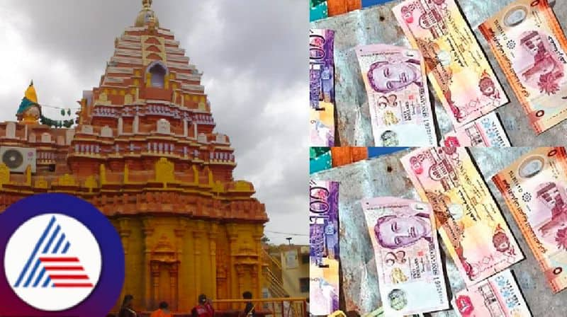
{"type": "MultiPolygon", "coordinates": [[[[256,316],[307,317],[307,299],[303,297],[281,297],[271,299],[217,299],[215,310],[226,316],[244,311],[246,303],[252,303],[256,316]]],[[[216,314],[215,314],[216,315],[216,314]]]]}

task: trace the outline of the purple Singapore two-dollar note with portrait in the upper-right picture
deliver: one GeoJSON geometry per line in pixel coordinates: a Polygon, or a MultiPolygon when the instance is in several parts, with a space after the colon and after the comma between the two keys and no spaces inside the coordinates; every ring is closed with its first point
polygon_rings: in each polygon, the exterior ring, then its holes
{"type": "Polygon", "coordinates": [[[433,146],[425,64],[417,50],[392,45],[355,48],[370,108],[375,146],[433,146]]]}

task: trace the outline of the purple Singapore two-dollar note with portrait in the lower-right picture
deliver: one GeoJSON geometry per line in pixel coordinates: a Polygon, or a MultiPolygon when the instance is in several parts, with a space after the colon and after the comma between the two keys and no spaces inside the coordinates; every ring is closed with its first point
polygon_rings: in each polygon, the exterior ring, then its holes
{"type": "Polygon", "coordinates": [[[361,200],[386,316],[449,308],[430,204],[397,197],[361,200]]]}

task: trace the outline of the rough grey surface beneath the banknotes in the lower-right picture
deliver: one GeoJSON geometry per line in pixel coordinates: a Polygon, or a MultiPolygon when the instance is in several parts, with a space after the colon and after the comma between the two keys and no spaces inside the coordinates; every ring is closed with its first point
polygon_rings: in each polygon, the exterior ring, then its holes
{"type": "MultiPolygon", "coordinates": [[[[565,303],[567,291],[553,294],[549,288],[544,273],[539,269],[532,250],[520,232],[515,220],[510,214],[502,195],[493,184],[491,178],[523,154],[533,148],[515,147],[505,149],[469,149],[473,161],[480,169],[488,188],[500,206],[510,229],[520,244],[524,260],[512,265],[513,274],[522,289],[527,305],[534,317],[563,317],[567,316],[565,303]]],[[[361,198],[395,196],[420,200],[419,195],[405,173],[400,163],[400,157],[410,150],[400,151],[376,159],[359,161],[340,168],[311,175],[313,180],[335,180],[339,182],[339,219],[340,219],[340,263],[341,263],[341,296],[342,309],[356,311],[359,314],[374,311],[381,306],[378,292],[378,279],[374,252],[370,241],[366,221],[360,205],[361,198]]],[[[442,262],[447,273],[449,297],[454,292],[464,289],[461,279],[451,258],[445,256],[444,243],[442,246],[442,262]]],[[[452,311],[433,313],[430,316],[453,317],[452,311]]]]}

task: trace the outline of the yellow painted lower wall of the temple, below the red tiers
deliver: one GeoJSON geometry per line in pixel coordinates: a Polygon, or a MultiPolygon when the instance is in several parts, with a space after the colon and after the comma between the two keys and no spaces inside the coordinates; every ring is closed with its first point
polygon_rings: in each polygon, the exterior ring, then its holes
{"type": "MultiPolygon", "coordinates": [[[[140,311],[167,301],[190,311],[199,294],[239,299],[262,287],[262,224],[218,224],[184,217],[111,219],[122,237],[126,277],[122,297],[140,311]]],[[[119,302],[116,304],[118,310],[119,302]]]]}

